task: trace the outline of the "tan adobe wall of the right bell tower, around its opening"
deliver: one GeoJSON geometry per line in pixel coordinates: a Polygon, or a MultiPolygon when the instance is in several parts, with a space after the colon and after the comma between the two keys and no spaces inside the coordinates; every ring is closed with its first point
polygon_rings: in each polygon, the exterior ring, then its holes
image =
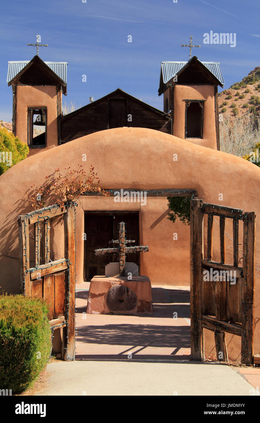
{"type": "Polygon", "coordinates": [[[215,123],[214,85],[175,85],[174,86],[174,124],[173,135],[185,137],[185,101],[206,100],[204,102],[203,139],[189,138],[190,143],[217,150],[215,123]]]}

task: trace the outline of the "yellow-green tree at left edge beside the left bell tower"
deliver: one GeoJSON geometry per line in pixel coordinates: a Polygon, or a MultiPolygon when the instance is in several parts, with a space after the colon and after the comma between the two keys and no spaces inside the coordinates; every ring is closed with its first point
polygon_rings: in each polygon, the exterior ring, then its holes
{"type": "Polygon", "coordinates": [[[21,160],[26,159],[29,147],[6,128],[0,127],[0,175],[21,160]]]}

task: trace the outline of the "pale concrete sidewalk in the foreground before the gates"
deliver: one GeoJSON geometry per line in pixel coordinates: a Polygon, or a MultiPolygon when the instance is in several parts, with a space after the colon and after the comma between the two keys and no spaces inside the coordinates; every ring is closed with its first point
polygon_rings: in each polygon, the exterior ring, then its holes
{"type": "Polygon", "coordinates": [[[34,395],[250,396],[254,389],[228,365],[191,361],[61,361],[48,364],[46,376],[34,395]]]}

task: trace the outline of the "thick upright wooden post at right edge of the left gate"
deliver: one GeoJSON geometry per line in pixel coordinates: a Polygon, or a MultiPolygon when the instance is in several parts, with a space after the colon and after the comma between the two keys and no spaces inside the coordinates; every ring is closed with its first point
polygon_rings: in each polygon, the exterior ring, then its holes
{"type": "Polygon", "coordinates": [[[65,302],[68,325],[64,328],[64,360],[75,358],[75,203],[70,203],[64,213],[64,257],[69,261],[69,270],[65,271],[65,302]],[[66,349],[67,338],[67,349],[66,349]]]}

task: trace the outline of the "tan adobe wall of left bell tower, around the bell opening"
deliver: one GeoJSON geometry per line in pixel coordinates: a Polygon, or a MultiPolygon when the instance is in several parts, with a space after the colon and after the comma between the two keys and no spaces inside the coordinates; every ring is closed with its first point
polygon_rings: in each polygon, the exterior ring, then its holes
{"type": "MultiPolygon", "coordinates": [[[[17,85],[16,137],[27,144],[27,107],[47,107],[47,146],[30,148],[29,157],[58,145],[56,86],[17,85]]],[[[61,95],[61,94],[58,94],[61,95]]]]}

